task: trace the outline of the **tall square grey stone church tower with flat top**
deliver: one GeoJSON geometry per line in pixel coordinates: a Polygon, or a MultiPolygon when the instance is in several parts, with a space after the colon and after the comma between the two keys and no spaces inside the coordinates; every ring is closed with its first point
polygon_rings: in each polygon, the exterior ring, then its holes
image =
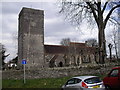
{"type": "Polygon", "coordinates": [[[19,14],[18,64],[26,59],[26,67],[44,67],[44,11],[22,8],[19,14]]]}

